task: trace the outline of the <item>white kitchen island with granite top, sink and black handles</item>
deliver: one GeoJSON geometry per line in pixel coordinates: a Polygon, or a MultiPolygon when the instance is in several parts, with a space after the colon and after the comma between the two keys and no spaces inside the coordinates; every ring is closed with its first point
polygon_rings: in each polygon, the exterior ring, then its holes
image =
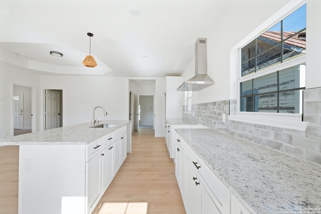
{"type": "Polygon", "coordinates": [[[19,214],[84,213],[95,208],[131,151],[130,121],[101,121],[0,139],[19,145],[19,214]]]}

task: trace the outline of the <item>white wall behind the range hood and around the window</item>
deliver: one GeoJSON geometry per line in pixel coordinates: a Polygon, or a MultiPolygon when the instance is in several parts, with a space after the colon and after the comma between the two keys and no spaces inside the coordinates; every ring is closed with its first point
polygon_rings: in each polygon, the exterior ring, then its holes
{"type": "MultiPolygon", "coordinates": [[[[262,1],[257,1],[255,3],[253,2],[253,7],[250,8],[243,8],[242,1],[236,2],[235,5],[231,6],[224,13],[224,16],[221,17],[220,20],[217,20],[216,25],[212,28],[212,31],[210,31],[207,35],[200,35],[200,37],[207,38],[208,75],[215,81],[215,85],[203,89],[199,92],[193,92],[193,104],[236,99],[235,97],[231,97],[235,95],[233,92],[231,92],[231,89],[234,90],[238,86],[235,81],[232,81],[235,77],[231,77],[230,73],[233,73],[231,72],[231,69],[235,68],[235,63],[237,63],[238,61],[237,59],[230,60],[231,49],[246,36],[248,36],[251,32],[256,30],[258,26],[268,20],[273,14],[275,14],[288,2],[290,1],[274,1],[273,4],[268,4],[262,3],[262,1]]],[[[298,1],[294,0],[294,2],[295,4],[297,4],[298,1]]],[[[321,1],[308,0],[307,2],[308,4],[313,2],[311,4],[313,5],[312,7],[318,8],[318,10],[314,8],[312,12],[311,8],[307,6],[307,14],[310,14],[307,17],[307,29],[309,26],[311,26],[310,28],[315,28],[312,33],[316,31],[318,32],[315,36],[313,36],[309,34],[310,30],[308,29],[307,40],[310,40],[311,42],[311,37],[314,37],[315,40],[317,40],[317,44],[320,44],[321,42],[319,38],[321,37],[318,20],[321,15],[317,11],[320,10],[321,1]],[[313,18],[311,16],[313,16],[313,18]],[[316,16],[318,19],[315,19],[314,16],[316,16]]],[[[293,1],[291,3],[293,3],[293,1]]],[[[264,29],[260,29],[260,31],[263,30],[264,29]]],[[[259,31],[257,33],[259,33],[259,31]]],[[[196,40],[197,38],[195,38],[195,41],[196,40]]],[[[313,48],[318,49],[318,47],[320,46],[315,46],[315,48],[313,48]]],[[[311,51],[311,48],[312,47],[306,48],[307,53],[311,51]]],[[[194,52],[194,49],[191,51],[194,52]]],[[[308,54],[306,55],[308,57],[308,54]]],[[[316,50],[315,52],[313,52],[313,56],[314,58],[317,57],[316,50]]],[[[190,61],[190,63],[186,66],[184,72],[182,73],[184,80],[187,80],[194,76],[194,61],[195,58],[190,61]]],[[[317,67],[320,68],[320,65],[318,65],[317,67]]],[[[319,70],[320,69],[318,69],[318,71],[319,70]]],[[[233,73],[233,75],[234,74],[235,73],[233,73]]],[[[318,75],[321,77],[321,74],[318,75]]],[[[314,81],[316,82],[316,80],[314,81]]],[[[307,80],[307,87],[309,85],[308,82],[309,80],[307,80]]],[[[316,85],[316,83],[313,85],[316,85]]]]}

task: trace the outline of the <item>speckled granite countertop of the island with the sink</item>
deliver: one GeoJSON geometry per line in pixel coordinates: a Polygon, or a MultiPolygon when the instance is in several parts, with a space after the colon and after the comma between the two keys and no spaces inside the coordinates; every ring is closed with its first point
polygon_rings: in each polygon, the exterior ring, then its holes
{"type": "Polygon", "coordinates": [[[130,123],[129,120],[103,120],[99,124],[117,124],[111,128],[89,128],[91,123],[65,126],[0,139],[0,145],[86,145],[130,123]]]}

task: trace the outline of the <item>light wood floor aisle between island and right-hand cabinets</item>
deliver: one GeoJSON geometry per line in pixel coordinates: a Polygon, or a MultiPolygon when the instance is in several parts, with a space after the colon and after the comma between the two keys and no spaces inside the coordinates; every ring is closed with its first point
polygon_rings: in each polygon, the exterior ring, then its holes
{"type": "Polygon", "coordinates": [[[164,137],[155,138],[153,129],[132,134],[132,153],[127,154],[93,214],[113,213],[99,212],[105,202],[148,202],[148,214],[186,213],[164,137]]]}

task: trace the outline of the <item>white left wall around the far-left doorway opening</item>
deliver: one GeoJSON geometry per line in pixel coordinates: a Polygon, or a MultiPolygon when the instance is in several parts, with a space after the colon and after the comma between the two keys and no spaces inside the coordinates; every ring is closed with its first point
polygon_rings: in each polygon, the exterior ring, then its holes
{"type": "MultiPolygon", "coordinates": [[[[26,71],[17,66],[0,62],[0,138],[13,136],[13,85],[23,85],[28,87],[36,87],[36,100],[34,118],[37,120],[40,130],[40,75],[26,71]]],[[[37,131],[34,130],[34,131],[37,131]]]]}

